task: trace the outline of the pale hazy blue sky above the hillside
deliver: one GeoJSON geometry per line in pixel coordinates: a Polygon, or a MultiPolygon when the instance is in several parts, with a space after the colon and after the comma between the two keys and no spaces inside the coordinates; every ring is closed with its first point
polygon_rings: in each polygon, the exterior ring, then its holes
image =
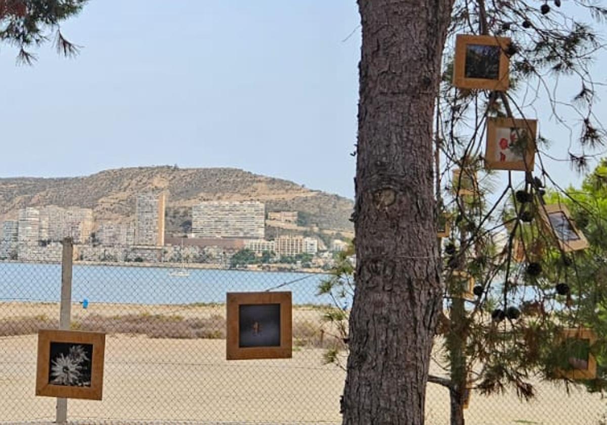
{"type": "Polygon", "coordinates": [[[92,0],[63,25],[73,60],[0,46],[0,177],[230,166],[351,198],[358,24],[354,0],[92,0]]]}

